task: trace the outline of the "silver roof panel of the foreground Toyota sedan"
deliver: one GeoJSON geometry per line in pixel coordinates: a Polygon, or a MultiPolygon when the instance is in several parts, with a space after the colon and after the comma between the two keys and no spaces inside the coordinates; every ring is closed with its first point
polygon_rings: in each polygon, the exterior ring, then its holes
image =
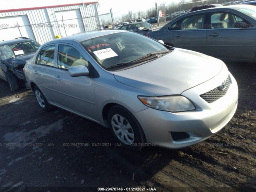
{"type": "Polygon", "coordinates": [[[104,36],[104,35],[108,35],[108,34],[115,34],[115,33],[123,33],[123,32],[128,32],[128,31],[102,30],[102,31],[82,32],[82,33],[74,34],[74,35],[71,35],[71,36],[67,36],[67,37],[63,37],[63,38],[59,38],[59,39],[54,39],[52,41],[47,42],[46,44],[63,42],[65,40],[75,40],[77,42],[81,42],[81,41],[96,38],[96,37],[99,37],[99,36],[104,36]]]}

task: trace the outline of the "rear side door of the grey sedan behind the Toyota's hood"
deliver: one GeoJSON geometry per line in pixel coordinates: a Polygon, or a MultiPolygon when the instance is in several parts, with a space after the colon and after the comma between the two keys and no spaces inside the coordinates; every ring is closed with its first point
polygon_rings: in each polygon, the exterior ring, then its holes
{"type": "MultiPolygon", "coordinates": [[[[182,18],[172,33],[174,46],[206,53],[206,14],[195,14],[182,18]]],[[[169,30],[169,29],[168,29],[169,30]]]]}

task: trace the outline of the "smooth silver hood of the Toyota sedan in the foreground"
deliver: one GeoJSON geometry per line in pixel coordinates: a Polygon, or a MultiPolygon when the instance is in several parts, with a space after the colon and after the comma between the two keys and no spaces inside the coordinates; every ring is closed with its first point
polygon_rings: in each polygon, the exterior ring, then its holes
{"type": "Polygon", "coordinates": [[[161,58],[113,74],[120,83],[161,96],[181,94],[202,84],[220,73],[223,65],[211,56],[175,48],[161,58]]]}

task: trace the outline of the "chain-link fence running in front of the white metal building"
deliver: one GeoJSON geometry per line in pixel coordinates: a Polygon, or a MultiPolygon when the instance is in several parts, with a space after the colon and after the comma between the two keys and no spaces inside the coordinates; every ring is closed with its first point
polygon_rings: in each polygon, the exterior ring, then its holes
{"type": "Polygon", "coordinates": [[[19,22],[0,25],[0,41],[27,37],[43,44],[55,38],[81,32],[114,29],[112,12],[89,17],[58,19],[54,22],[19,22]]]}

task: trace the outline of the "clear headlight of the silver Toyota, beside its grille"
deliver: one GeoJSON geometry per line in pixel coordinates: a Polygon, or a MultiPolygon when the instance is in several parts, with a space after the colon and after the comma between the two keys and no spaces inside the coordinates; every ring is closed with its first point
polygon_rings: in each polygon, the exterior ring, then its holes
{"type": "Polygon", "coordinates": [[[170,112],[180,112],[180,111],[189,111],[196,109],[195,106],[184,96],[163,96],[163,97],[146,97],[138,96],[140,101],[146,106],[170,111],[170,112]]]}

